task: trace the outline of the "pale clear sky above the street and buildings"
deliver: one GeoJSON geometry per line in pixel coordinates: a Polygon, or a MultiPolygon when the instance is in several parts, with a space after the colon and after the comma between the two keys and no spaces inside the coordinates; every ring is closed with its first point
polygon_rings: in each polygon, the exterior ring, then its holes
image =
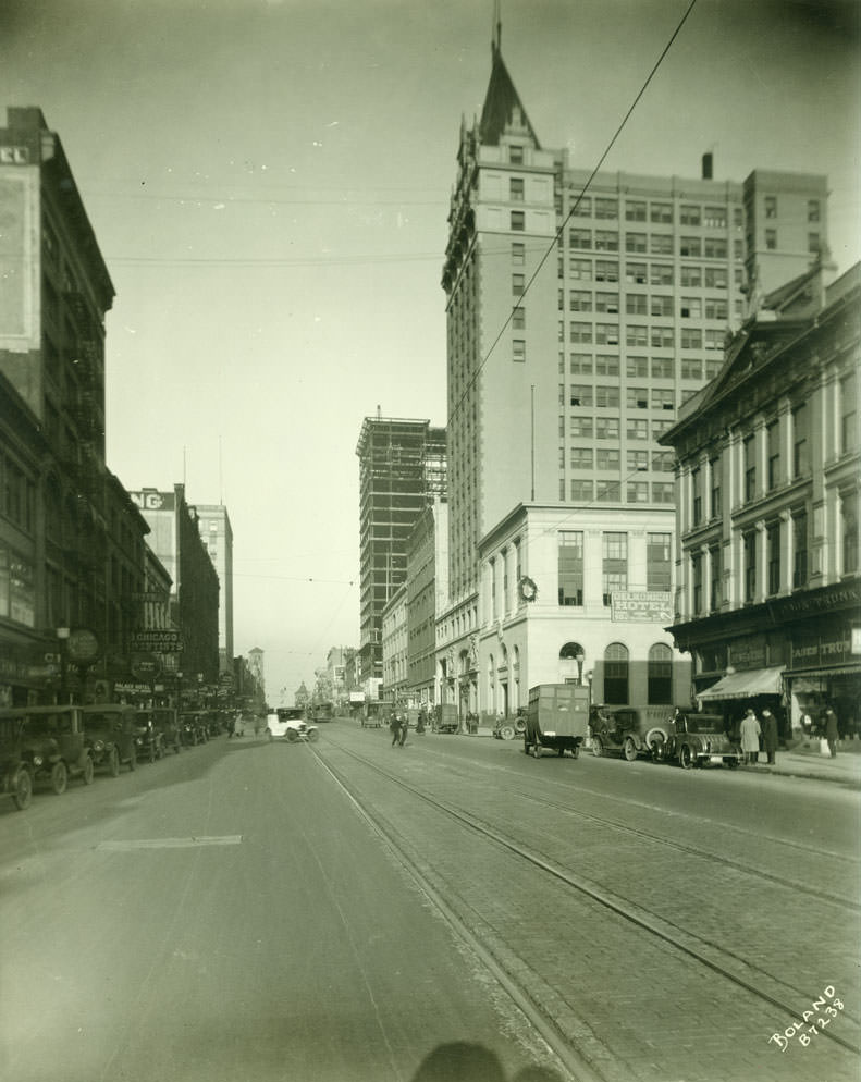
{"type": "MultiPolygon", "coordinates": [[[[592,169],[690,0],[502,0],[539,138],[592,169]]],[[[440,286],[492,0],[0,0],[0,126],[38,106],[116,291],[108,465],[223,503],[234,653],[292,703],[359,638],[365,417],[445,423],[440,286]]],[[[861,258],[857,0],[697,0],[606,170],[824,173],[861,258]]]]}

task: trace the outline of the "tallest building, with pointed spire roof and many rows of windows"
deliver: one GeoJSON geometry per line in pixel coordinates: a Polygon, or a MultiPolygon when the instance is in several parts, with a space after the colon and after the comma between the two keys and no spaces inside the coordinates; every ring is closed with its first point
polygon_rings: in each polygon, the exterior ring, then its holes
{"type": "MultiPolygon", "coordinates": [[[[762,171],[743,185],[717,181],[710,155],[692,179],[590,179],[567,151],[542,147],[499,38],[481,119],[462,123],[457,164],[442,275],[451,598],[438,660],[450,680],[470,677],[478,701],[469,709],[488,709],[481,639],[500,614],[489,616],[481,597],[482,576],[488,588],[495,581],[482,570],[481,539],[518,505],[565,512],[550,516],[565,532],[576,532],[588,509],[595,538],[587,538],[582,574],[589,583],[603,577],[596,604],[610,617],[614,590],[637,583],[649,592],[654,576],[632,562],[652,552],[663,565],[666,546],[649,538],[669,540],[675,530],[673,456],[657,440],[680,403],[717,373],[727,334],[758,292],[827,250],[827,185],[762,171]],[[631,531],[639,536],[629,539],[631,531]]],[[[551,528],[542,521],[542,531],[551,528]]],[[[501,555],[492,557],[497,569],[501,555]]],[[[533,577],[518,538],[503,566],[533,577]]],[[[555,586],[557,568],[541,571],[555,586]]],[[[515,603],[513,582],[505,618],[521,620],[529,606],[515,603]]],[[[558,604],[567,611],[556,615],[579,616],[576,591],[566,590],[558,604]]],[[[548,592],[557,591],[544,590],[545,604],[548,592]]],[[[571,645],[562,627],[554,634],[561,649],[571,645]]],[[[603,656],[611,644],[592,652],[603,656]]],[[[549,671],[541,666],[542,679],[549,671]]]]}

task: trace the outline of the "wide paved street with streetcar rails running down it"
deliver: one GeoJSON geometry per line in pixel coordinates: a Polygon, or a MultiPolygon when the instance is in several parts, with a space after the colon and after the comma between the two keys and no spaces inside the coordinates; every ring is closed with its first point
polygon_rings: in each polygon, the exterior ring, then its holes
{"type": "Polygon", "coordinates": [[[469,1041],[506,1080],[852,1079],[858,811],[346,721],[222,737],[0,813],[0,1071],[409,1082],[469,1041]],[[770,1040],[831,986],[841,1043],[770,1040]]]}

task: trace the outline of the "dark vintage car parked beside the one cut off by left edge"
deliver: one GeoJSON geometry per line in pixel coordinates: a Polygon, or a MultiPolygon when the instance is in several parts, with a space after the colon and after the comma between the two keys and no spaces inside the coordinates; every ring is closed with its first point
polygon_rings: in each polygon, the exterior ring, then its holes
{"type": "MultiPolygon", "coordinates": [[[[70,777],[93,784],[94,763],[87,752],[81,706],[21,706],[0,711],[0,718],[21,722],[21,758],[30,780],[49,779],[54,792],[65,792],[70,777]]],[[[26,784],[26,783],[25,783],[26,784]]]]}

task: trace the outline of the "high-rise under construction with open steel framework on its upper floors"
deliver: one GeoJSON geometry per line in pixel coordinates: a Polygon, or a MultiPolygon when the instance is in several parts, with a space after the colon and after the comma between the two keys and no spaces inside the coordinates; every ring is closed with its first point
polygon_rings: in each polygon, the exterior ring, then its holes
{"type": "Polygon", "coordinates": [[[445,496],[445,429],[427,420],[366,417],[359,458],[359,675],[382,679],[382,612],[406,580],[409,536],[434,496],[445,496]]]}

